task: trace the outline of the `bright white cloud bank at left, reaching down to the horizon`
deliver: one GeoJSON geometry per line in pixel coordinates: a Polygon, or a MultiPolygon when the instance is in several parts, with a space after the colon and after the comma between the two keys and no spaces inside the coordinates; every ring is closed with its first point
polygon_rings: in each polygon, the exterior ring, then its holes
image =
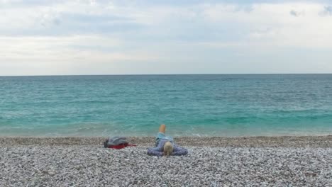
{"type": "Polygon", "coordinates": [[[126,62],[156,60],[144,49],[119,50],[114,38],[99,35],[0,37],[0,74],[116,73],[126,62]]]}

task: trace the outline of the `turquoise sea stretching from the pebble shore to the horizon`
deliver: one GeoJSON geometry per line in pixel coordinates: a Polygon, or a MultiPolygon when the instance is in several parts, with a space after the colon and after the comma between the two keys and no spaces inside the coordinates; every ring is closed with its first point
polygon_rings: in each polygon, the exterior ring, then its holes
{"type": "Polygon", "coordinates": [[[0,136],[332,134],[332,74],[0,77],[0,136]]]}

